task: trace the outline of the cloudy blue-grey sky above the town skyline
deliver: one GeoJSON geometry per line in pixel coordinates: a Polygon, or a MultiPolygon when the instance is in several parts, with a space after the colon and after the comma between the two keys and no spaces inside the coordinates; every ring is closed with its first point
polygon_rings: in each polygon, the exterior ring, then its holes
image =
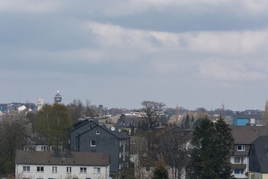
{"type": "Polygon", "coordinates": [[[0,103],[264,109],[266,0],[1,0],[0,103]]]}

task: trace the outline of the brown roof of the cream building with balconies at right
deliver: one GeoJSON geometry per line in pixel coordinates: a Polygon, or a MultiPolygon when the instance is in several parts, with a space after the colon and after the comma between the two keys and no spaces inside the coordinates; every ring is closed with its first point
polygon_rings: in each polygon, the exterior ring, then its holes
{"type": "Polygon", "coordinates": [[[234,144],[251,144],[259,136],[268,135],[268,126],[229,126],[234,144]]]}

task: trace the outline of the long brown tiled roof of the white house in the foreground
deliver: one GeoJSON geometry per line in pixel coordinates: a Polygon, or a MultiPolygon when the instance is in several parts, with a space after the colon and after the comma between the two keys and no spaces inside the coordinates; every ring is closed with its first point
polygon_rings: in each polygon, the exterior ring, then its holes
{"type": "Polygon", "coordinates": [[[65,152],[60,152],[59,158],[53,154],[53,151],[16,151],[15,164],[108,166],[110,163],[109,153],[71,152],[71,158],[65,158],[65,152]]]}

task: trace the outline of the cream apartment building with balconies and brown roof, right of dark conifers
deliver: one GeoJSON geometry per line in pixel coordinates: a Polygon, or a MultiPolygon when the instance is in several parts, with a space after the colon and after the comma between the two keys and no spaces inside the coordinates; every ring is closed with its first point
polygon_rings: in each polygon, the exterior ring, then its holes
{"type": "Polygon", "coordinates": [[[251,143],[259,136],[267,135],[268,126],[229,126],[234,138],[234,153],[230,156],[231,167],[236,178],[247,178],[251,143]]]}

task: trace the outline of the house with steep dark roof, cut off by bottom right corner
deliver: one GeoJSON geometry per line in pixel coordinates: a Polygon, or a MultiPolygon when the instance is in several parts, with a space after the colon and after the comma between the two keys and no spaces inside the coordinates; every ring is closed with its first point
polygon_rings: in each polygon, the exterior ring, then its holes
{"type": "Polygon", "coordinates": [[[252,142],[249,152],[250,179],[268,178],[268,136],[260,136],[252,142]]]}

